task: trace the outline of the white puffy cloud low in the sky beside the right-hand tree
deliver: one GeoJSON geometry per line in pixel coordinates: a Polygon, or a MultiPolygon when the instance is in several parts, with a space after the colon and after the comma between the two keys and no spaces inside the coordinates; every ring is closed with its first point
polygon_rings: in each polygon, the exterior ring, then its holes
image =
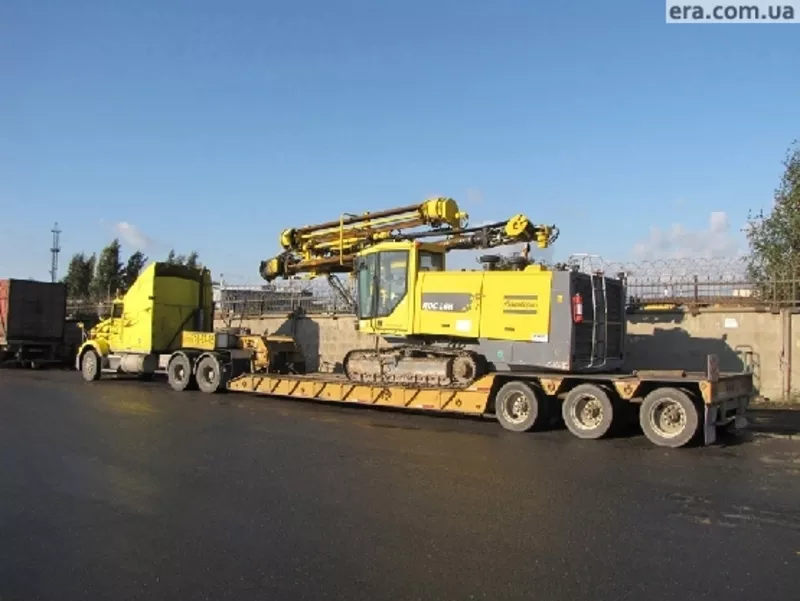
{"type": "Polygon", "coordinates": [[[716,259],[738,255],[741,241],[731,230],[728,214],[713,211],[708,226],[702,230],[689,230],[676,223],[669,229],[650,229],[647,239],[636,243],[633,255],[637,260],[645,259],[716,259]]]}

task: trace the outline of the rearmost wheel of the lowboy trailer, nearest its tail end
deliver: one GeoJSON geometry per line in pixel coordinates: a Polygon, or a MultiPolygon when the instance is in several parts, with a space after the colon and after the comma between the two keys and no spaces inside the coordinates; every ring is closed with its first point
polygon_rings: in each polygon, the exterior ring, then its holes
{"type": "Polygon", "coordinates": [[[691,397],[678,388],[658,388],[644,397],[639,408],[644,435],[660,447],[677,449],[697,434],[700,413],[691,397]]]}

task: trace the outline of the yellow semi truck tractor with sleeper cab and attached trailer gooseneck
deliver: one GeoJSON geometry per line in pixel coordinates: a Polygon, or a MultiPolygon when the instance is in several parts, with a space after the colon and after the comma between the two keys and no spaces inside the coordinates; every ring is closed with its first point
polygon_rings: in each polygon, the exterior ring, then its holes
{"type": "Polygon", "coordinates": [[[75,367],[87,381],[103,373],[165,373],[174,390],[208,393],[243,373],[305,371],[291,337],[215,332],[213,320],[208,270],[152,263],[113,301],[111,316],[85,333],[75,367]]]}

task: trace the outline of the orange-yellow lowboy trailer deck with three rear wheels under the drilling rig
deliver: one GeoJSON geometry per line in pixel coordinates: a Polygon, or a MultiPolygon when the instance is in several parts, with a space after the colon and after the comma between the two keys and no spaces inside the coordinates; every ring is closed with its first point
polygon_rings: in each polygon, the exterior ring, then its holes
{"type": "MultiPolygon", "coordinates": [[[[674,370],[641,370],[619,374],[495,372],[465,388],[354,383],[341,374],[245,373],[228,381],[226,389],[296,400],[465,415],[494,412],[504,427],[514,431],[526,431],[541,426],[552,416],[555,407],[560,405],[568,428],[580,438],[601,438],[607,434],[614,414],[621,413],[620,405],[638,404],[649,412],[648,415],[651,413],[656,415],[654,413],[658,409],[656,405],[660,404],[666,406],[665,409],[659,409],[662,413],[669,409],[677,415],[675,417],[677,425],[672,431],[665,429],[662,432],[659,430],[657,419],[656,421],[650,419],[653,415],[647,419],[643,416],[640,422],[645,434],[655,444],[678,447],[687,444],[689,439],[693,439],[701,430],[704,443],[711,444],[716,440],[717,427],[746,426],[744,415],[753,395],[752,374],[720,373],[717,365],[717,359],[712,355],[708,358],[706,372],[674,370]],[[527,421],[514,422],[508,417],[498,398],[505,399],[505,396],[511,393],[522,394],[523,397],[527,394],[525,402],[534,405],[529,407],[529,411],[535,413],[533,418],[529,415],[527,421]],[[575,413],[573,406],[580,407],[576,411],[583,413],[581,415],[575,413]],[[605,416],[602,415],[604,411],[605,416]],[[583,424],[581,416],[592,417],[590,414],[594,416],[594,422],[589,419],[583,424]]],[[[656,417],[661,419],[662,414],[656,417]]]]}

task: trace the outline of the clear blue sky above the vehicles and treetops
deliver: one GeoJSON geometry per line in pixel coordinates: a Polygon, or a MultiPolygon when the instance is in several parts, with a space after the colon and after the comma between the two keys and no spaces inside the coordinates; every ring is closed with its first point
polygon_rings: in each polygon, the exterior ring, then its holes
{"type": "Polygon", "coordinates": [[[0,34],[0,277],[58,221],[62,274],[119,235],[257,283],[282,228],[430,195],[559,259],[730,254],[800,138],[798,26],[660,0],[5,0],[0,34]]]}

